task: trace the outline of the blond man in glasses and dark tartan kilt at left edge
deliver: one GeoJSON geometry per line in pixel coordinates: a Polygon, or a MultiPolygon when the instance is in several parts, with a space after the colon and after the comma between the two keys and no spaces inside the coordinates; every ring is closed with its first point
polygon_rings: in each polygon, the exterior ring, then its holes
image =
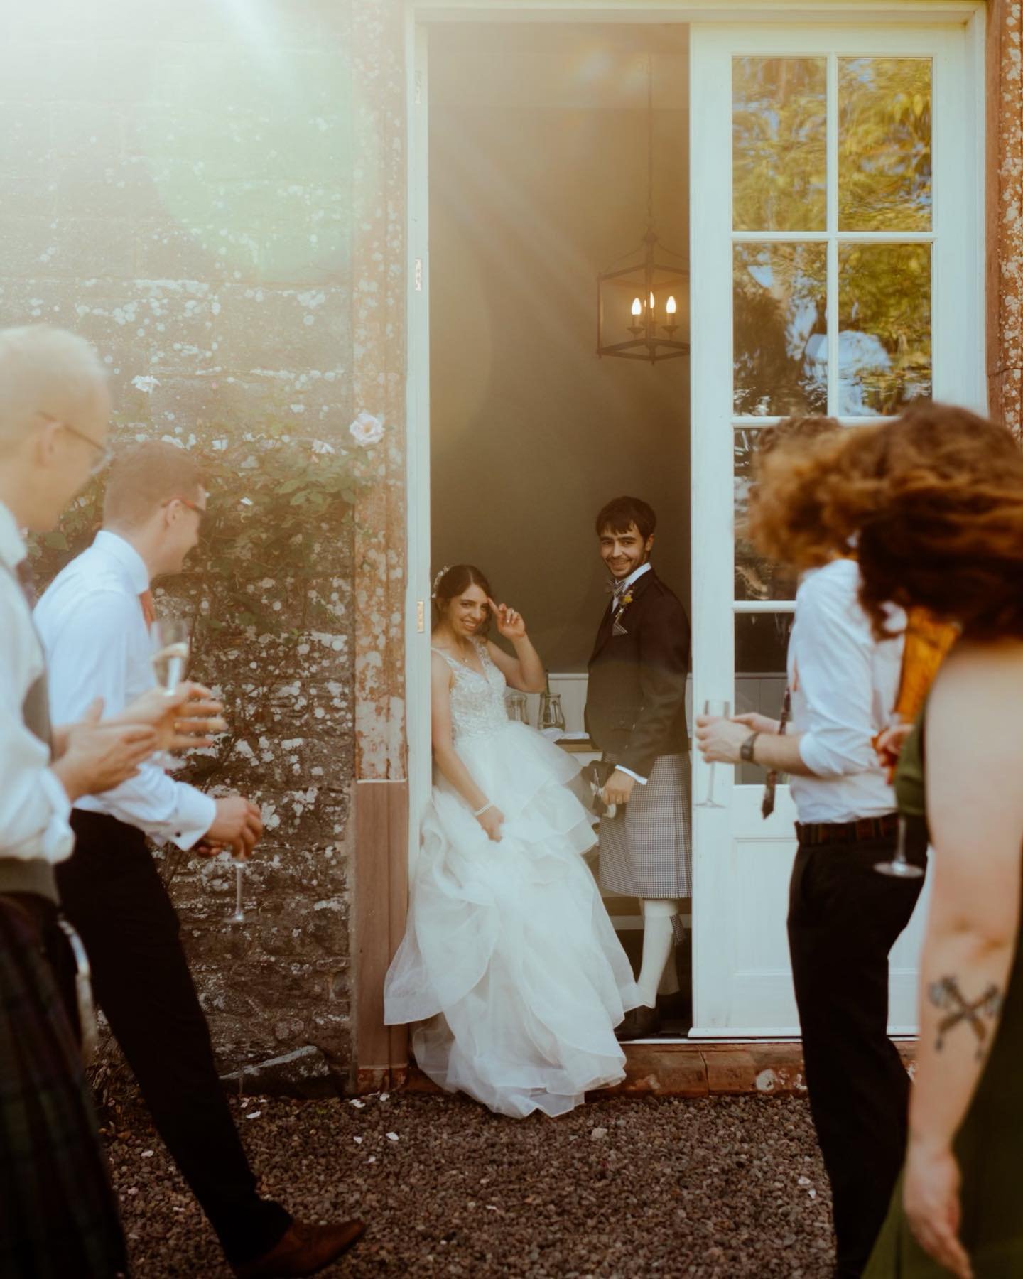
{"type": "Polygon", "coordinates": [[[102,366],[72,334],[0,331],[0,1274],[110,1279],[124,1237],[92,1100],[58,994],[54,867],[70,806],[129,778],[152,728],[51,730],[20,530],[52,528],[106,460],[102,366]],[[51,762],[52,760],[52,762],[51,762]],[[17,1046],[17,1051],[15,1051],[17,1046]]]}

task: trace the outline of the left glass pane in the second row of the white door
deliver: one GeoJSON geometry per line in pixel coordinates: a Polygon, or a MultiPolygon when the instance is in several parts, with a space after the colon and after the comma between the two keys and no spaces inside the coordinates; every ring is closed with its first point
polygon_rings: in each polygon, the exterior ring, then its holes
{"type": "Polygon", "coordinates": [[[735,413],[826,413],[825,246],[737,244],[734,253],[735,413]]]}

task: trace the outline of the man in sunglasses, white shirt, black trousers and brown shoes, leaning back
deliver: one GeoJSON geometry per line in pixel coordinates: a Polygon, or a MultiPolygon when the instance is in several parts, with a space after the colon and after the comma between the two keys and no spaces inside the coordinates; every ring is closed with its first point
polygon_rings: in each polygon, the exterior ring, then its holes
{"type": "MultiPolygon", "coordinates": [[[[119,707],[152,688],[150,583],[180,573],[206,509],[198,466],[170,444],[132,449],[110,468],[104,528],[58,574],[36,609],[54,715],[102,696],[119,707]]],[[[208,1216],[235,1274],[313,1274],[362,1234],[361,1221],[293,1223],[258,1196],[224,1097],[176,912],[146,838],[248,856],[258,808],[212,799],[156,764],[75,804],[74,857],[59,874],[68,917],[86,944],[100,1007],[136,1074],[157,1131],[208,1216]]]]}

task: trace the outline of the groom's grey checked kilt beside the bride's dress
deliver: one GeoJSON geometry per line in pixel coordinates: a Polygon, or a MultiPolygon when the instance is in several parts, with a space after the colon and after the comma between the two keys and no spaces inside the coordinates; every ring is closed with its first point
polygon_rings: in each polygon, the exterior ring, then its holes
{"type": "Polygon", "coordinates": [[[621,897],[684,898],[693,891],[689,756],[662,755],[625,811],[600,820],[600,885],[621,897]]]}

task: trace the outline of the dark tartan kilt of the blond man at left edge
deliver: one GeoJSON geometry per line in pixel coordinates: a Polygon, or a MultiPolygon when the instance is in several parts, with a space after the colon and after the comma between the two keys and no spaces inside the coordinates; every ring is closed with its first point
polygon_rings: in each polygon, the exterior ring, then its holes
{"type": "Polygon", "coordinates": [[[124,1234],[42,948],[40,922],[0,898],[0,1276],[111,1279],[124,1234]]]}

